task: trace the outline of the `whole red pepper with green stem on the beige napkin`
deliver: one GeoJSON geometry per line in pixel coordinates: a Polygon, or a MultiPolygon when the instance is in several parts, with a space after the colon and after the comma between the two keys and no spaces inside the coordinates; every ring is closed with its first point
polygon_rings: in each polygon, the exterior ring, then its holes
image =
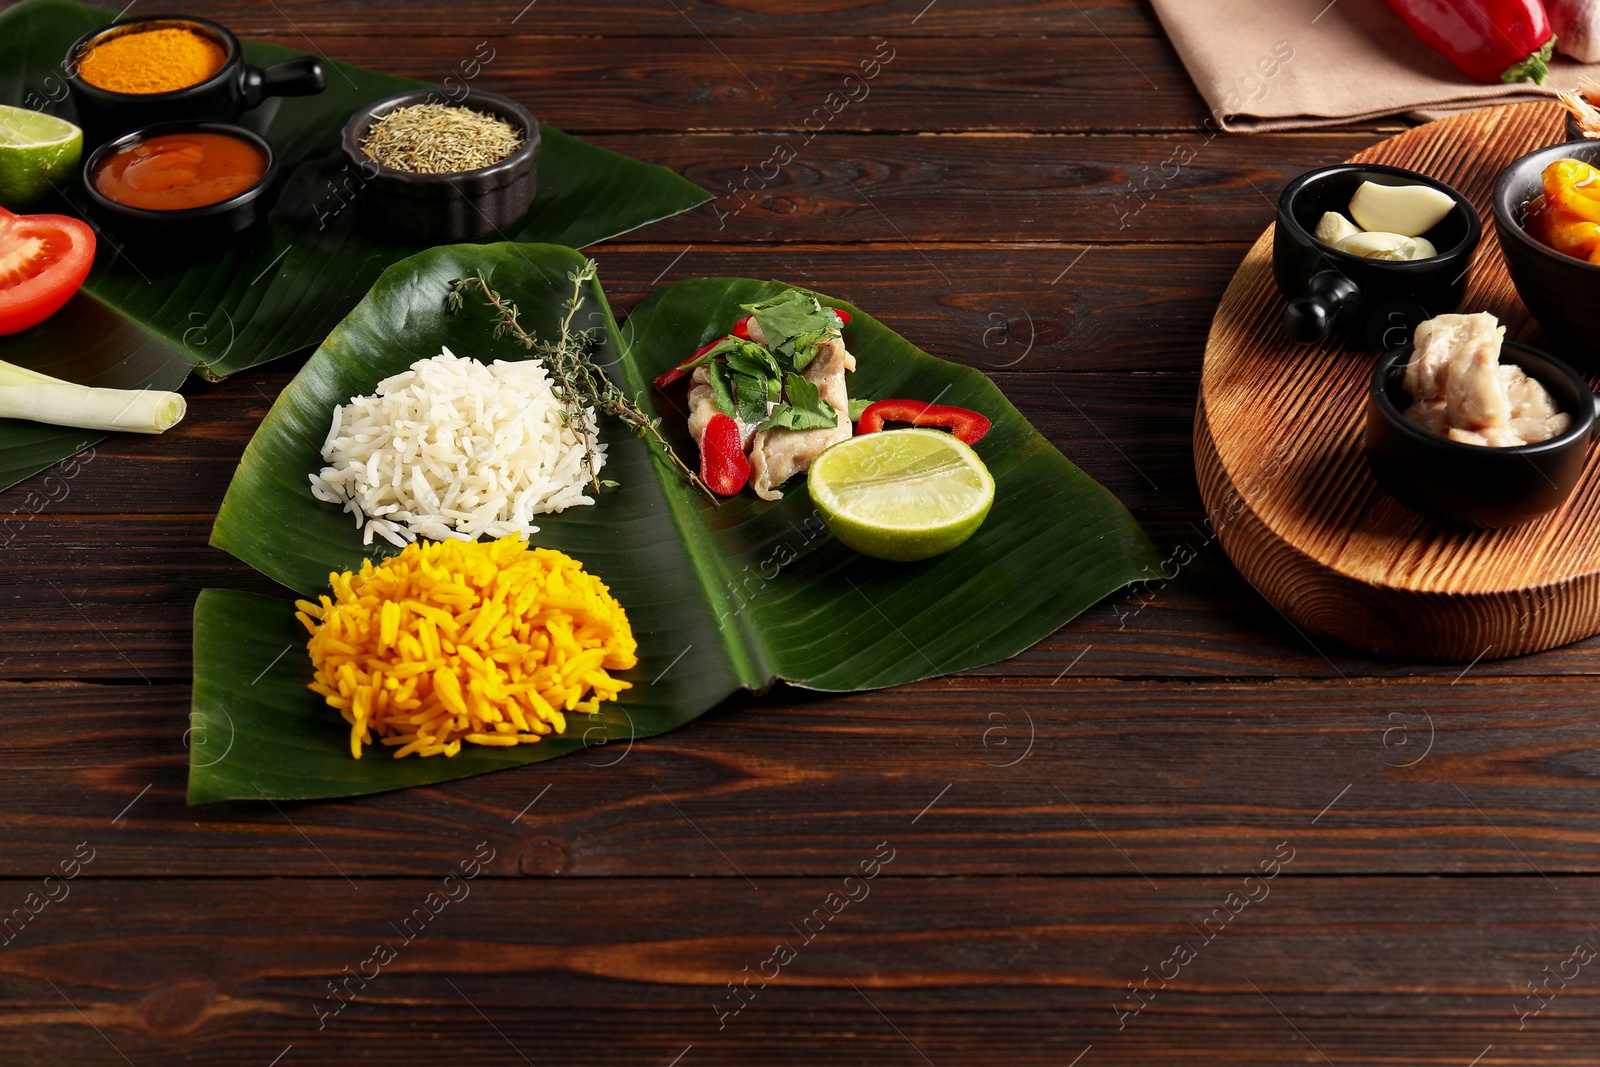
{"type": "Polygon", "coordinates": [[[1411,32],[1485,85],[1549,75],[1555,34],[1541,0],[1384,0],[1411,32]]]}

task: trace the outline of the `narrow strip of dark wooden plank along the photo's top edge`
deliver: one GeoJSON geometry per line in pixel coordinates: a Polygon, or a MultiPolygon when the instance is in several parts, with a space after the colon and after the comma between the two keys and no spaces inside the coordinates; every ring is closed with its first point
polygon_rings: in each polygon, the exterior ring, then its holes
{"type": "Polygon", "coordinates": [[[350,0],[194,0],[184,10],[218,19],[242,37],[299,34],[371,37],[480,37],[517,34],[590,37],[792,37],[854,34],[886,37],[1155,37],[1160,22],[1141,0],[1094,0],[1062,6],[1053,0],[995,0],[963,5],[928,0],[758,0],[726,3],[680,0],[470,0],[440,5],[432,0],[392,0],[381,16],[371,5],[350,0]],[[674,10],[677,8],[677,10],[674,10]]]}

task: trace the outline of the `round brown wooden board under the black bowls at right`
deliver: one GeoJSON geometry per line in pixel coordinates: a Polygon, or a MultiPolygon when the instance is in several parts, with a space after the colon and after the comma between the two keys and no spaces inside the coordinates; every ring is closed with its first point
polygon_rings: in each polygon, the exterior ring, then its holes
{"type": "MultiPolygon", "coordinates": [[[[1490,189],[1514,158],[1562,138],[1560,106],[1517,104],[1355,157],[1432,174],[1472,200],[1485,232],[1461,310],[1493,312],[1507,338],[1539,347],[1549,342],[1506,272],[1490,189]]],[[[1282,314],[1269,227],[1211,323],[1195,413],[1200,496],[1250,584],[1296,625],[1392,656],[1499,659],[1600,632],[1600,450],[1566,504],[1538,522],[1478,531],[1424,518],[1366,466],[1374,355],[1349,341],[1298,346],[1282,314]]]]}

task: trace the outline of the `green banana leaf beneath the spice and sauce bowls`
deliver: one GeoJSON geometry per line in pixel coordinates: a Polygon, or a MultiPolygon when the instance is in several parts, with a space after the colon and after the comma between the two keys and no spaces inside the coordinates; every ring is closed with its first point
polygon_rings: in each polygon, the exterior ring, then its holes
{"type": "MultiPolygon", "coordinates": [[[[112,19],[115,11],[64,0],[22,0],[0,13],[0,104],[74,120],[62,59],[74,40],[112,19]]],[[[256,66],[299,54],[245,43],[245,59],[256,66]]],[[[480,50],[462,62],[493,70],[493,56],[480,50]]],[[[0,358],[94,386],[176,389],[190,370],[226,378],[320,342],[386,267],[422,248],[360,232],[339,131],[358,107],[426,85],[336,61],[325,66],[323,93],[274,98],[242,120],[272,142],[283,173],[266,226],[226,250],[182,258],[139,246],[118,253],[102,237],[83,298],[34,331],[0,339],[0,358]],[[72,323],[82,309],[91,309],[90,322],[72,323]],[[94,334],[94,350],[74,342],[83,333],[94,334]]],[[[504,240],[581,248],[710,200],[666,168],[552,126],[541,125],[541,136],[538,197],[504,240]]],[[[29,210],[80,206],[69,187],[29,210]]],[[[0,421],[0,490],[102,437],[0,421]]]]}

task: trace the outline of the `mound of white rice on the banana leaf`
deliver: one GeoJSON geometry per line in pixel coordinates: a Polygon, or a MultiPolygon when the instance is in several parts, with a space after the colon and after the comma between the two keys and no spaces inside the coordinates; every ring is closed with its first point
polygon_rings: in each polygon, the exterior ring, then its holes
{"type": "MultiPolygon", "coordinates": [[[[590,437],[595,416],[586,408],[590,437]]],[[[333,413],[318,501],[355,515],[362,542],[509,537],[574,504],[590,472],[538,360],[483,365],[445,349],[333,413]]],[[[595,445],[595,474],[605,445],[595,445]]]]}

